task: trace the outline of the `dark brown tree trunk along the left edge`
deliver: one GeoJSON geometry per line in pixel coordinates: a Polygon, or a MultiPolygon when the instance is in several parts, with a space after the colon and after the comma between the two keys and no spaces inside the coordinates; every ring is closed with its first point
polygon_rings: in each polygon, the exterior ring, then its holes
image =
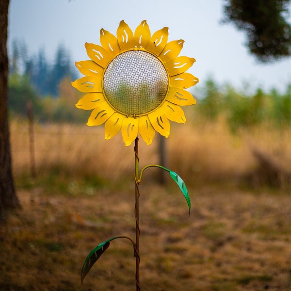
{"type": "Polygon", "coordinates": [[[0,218],[19,207],[12,177],[8,128],[8,28],[9,0],[0,0],[0,218]]]}

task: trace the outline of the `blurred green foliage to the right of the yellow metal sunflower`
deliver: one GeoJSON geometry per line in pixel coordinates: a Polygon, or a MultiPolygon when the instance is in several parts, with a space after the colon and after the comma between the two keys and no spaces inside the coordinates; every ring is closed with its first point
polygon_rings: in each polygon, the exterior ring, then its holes
{"type": "Polygon", "coordinates": [[[258,88],[254,94],[247,95],[229,85],[219,86],[210,79],[197,95],[200,100],[195,112],[199,117],[215,122],[223,116],[232,132],[261,123],[276,127],[291,124],[291,84],[283,94],[275,89],[265,93],[258,88]]]}

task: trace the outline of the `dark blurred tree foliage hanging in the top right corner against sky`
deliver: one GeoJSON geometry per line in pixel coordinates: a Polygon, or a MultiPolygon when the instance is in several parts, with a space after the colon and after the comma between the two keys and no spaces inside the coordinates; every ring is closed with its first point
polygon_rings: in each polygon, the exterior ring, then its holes
{"type": "Polygon", "coordinates": [[[291,55],[290,0],[226,0],[224,22],[247,33],[248,47],[261,62],[291,55]]]}

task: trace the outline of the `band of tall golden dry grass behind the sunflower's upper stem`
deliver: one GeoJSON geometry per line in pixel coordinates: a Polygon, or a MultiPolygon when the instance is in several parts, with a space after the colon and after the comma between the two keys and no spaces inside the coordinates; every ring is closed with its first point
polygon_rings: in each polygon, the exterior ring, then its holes
{"type": "MultiPolygon", "coordinates": [[[[140,166],[159,163],[156,137],[151,146],[140,139],[140,166]]],[[[11,123],[13,168],[16,177],[28,173],[30,151],[26,121],[11,123]]],[[[291,171],[291,129],[263,125],[231,134],[223,119],[216,123],[172,125],[166,140],[168,166],[190,184],[235,182],[258,165],[251,149],[258,148],[291,171]]],[[[133,144],[124,146],[121,135],[104,139],[103,127],[73,124],[35,124],[35,161],[38,175],[58,169],[59,175],[118,180],[133,173],[133,144]]],[[[156,171],[152,171],[153,177],[156,171]]]]}

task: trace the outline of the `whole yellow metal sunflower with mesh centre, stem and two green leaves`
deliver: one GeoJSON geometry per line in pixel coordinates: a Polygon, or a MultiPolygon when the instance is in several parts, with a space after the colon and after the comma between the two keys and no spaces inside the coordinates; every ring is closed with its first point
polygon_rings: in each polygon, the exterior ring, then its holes
{"type": "Polygon", "coordinates": [[[146,20],[133,33],[121,21],[115,37],[100,30],[101,46],[85,44],[91,60],[76,62],[85,75],[72,82],[73,87],[86,93],[76,104],[77,108],[91,110],[88,126],[105,124],[105,139],[121,131],[126,146],[134,141],[135,154],[135,241],[126,236],[113,237],[101,242],[85,259],[81,270],[81,283],[94,263],[109,247],[110,242],[125,238],[132,242],[136,257],[136,290],[139,279],[139,184],[144,170],[158,167],[167,171],[184,194],[189,207],[191,202],[183,180],[173,171],[160,165],[147,165],[139,172],[138,134],[150,145],[157,131],[164,137],[170,135],[170,121],[185,123],[180,106],[193,105],[194,97],[186,90],[198,79],[186,71],[195,59],[178,56],[183,40],[168,42],[168,28],[151,35],[146,20]]]}

